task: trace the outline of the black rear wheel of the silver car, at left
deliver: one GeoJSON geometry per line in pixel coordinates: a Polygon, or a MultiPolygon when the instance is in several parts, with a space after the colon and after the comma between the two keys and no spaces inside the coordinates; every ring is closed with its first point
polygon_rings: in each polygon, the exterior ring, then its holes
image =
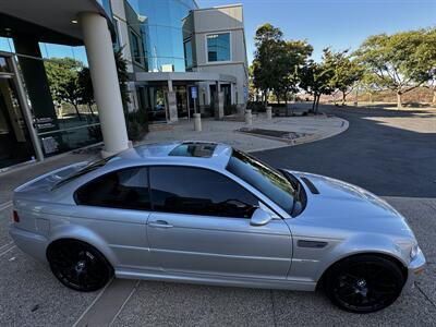
{"type": "Polygon", "coordinates": [[[77,240],[55,242],[48,247],[47,259],[60,282],[81,292],[96,291],[113,276],[106,257],[94,246],[77,240]]]}

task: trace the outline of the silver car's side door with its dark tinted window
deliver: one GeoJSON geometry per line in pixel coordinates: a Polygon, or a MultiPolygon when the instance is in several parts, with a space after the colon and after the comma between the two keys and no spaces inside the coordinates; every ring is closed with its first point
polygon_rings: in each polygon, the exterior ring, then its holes
{"type": "Polygon", "coordinates": [[[150,253],[168,272],[284,279],[292,239],[282,219],[251,226],[259,201],[218,172],[152,167],[150,253]]]}

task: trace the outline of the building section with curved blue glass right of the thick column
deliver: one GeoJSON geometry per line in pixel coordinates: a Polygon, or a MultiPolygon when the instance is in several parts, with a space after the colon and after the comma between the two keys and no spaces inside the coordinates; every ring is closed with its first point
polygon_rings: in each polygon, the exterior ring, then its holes
{"type": "Polygon", "coordinates": [[[121,36],[118,46],[130,58],[132,110],[143,109],[149,123],[157,123],[191,118],[195,111],[222,118],[244,108],[242,5],[199,9],[193,0],[110,3],[121,36]]]}

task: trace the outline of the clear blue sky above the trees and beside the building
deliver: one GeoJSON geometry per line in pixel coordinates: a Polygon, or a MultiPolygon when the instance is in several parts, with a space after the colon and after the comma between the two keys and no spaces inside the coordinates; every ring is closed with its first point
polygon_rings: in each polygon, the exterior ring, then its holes
{"type": "Polygon", "coordinates": [[[306,39],[313,58],[323,49],[356,49],[368,36],[436,26],[436,0],[197,0],[201,8],[242,3],[249,62],[253,37],[264,23],[279,27],[284,39],[306,39]]]}

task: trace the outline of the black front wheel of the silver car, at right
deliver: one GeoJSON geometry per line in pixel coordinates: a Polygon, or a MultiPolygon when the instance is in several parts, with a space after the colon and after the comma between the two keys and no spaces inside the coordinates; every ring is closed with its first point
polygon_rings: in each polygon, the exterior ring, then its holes
{"type": "Polygon", "coordinates": [[[335,264],[327,271],[324,288],[338,307],[364,314],[392,304],[404,281],[395,262],[376,255],[359,255],[335,264]]]}

